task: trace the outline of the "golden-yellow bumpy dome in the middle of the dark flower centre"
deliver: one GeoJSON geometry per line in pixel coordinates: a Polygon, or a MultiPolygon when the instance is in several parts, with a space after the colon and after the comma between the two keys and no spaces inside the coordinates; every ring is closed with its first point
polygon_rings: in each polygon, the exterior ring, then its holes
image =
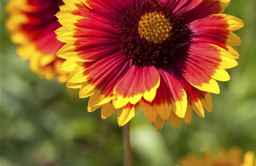
{"type": "Polygon", "coordinates": [[[161,12],[145,13],[139,22],[139,35],[141,38],[153,43],[161,43],[170,36],[171,23],[161,12]]]}

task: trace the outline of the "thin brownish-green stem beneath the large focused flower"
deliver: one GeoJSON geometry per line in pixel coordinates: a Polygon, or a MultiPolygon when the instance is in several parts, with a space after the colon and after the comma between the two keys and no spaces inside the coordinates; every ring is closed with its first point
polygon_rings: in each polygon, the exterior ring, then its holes
{"type": "Polygon", "coordinates": [[[123,127],[124,137],[124,166],[132,166],[132,150],[130,142],[130,122],[123,127]]]}

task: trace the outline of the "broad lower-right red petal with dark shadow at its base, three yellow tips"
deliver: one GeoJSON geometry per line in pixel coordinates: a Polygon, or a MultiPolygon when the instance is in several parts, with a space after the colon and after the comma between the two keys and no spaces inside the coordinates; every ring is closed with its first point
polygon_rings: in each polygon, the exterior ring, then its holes
{"type": "Polygon", "coordinates": [[[220,69],[231,68],[237,64],[231,53],[225,49],[200,43],[191,44],[188,55],[180,58],[176,66],[182,76],[197,89],[219,94],[219,86],[213,78],[229,80],[228,74],[220,69]]]}

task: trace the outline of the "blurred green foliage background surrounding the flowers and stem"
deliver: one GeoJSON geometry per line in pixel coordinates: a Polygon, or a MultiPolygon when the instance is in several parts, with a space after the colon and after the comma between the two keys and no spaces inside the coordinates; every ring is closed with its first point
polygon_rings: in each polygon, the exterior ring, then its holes
{"type": "MultiPolygon", "coordinates": [[[[117,116],[101,120],[100,111],[87,113],[87,99],[56,80],[33,74],[9,40],[1,0],[1,166],[121,166],[122,127],[117,116]]],[[[227,14],[241,18],[237,34],[239,66],[229,69],[232,81],[219,82],[213,114],[193,115],[189,128],[165,124],[159,132],[138,111],[131,123],[135,166],[171,166],[189,152],[218,147],[256,149],[256,1],[231,0],[227,14]]]]}

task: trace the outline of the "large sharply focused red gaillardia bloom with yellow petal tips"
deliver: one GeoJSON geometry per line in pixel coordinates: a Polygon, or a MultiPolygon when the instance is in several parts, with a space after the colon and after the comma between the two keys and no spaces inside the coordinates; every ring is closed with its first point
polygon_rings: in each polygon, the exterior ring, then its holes
{"type": "Polygon", "coordinates": [[[90,96],[103,119],[117,109],[124,125],[142,106],[159,130],[189,124],[192,109],[212,112],[216,80],[228,81],[244,23],[220,14],[229,0],[64,0],[57,13],[57,56],[71,71],[67,86],[90,96]]]}

